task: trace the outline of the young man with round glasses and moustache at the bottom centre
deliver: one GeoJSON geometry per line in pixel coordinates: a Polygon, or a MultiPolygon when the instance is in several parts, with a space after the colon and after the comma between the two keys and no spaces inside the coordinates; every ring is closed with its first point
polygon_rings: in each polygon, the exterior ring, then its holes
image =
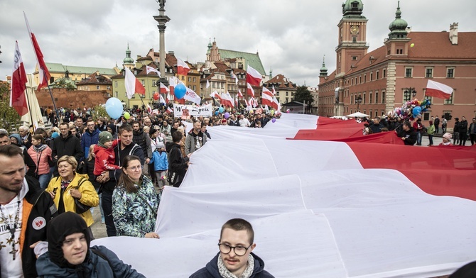
{"type": "Polygon", "coordinates": [[[220,252],[190,278],[274,277],[264,270],[263,260],[251,252],[255,247],[251,224],[241,218],[230,219],[222,226],[218,240],[220,252]]]}

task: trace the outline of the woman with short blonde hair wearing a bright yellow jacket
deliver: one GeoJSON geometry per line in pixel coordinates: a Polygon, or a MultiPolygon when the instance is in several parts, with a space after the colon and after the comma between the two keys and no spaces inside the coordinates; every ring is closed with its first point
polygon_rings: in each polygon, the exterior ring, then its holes
{"type": "MultiPolygon", "coordinates": [[[[57,165],[60,177],[51,179],[45,191],[55,201],[58,213],[66,211],[76,212],[75,199],[79,199],[78,201],[86,206],[94,207],[99,204],[99,196],[97,196],[96,189],[88,180],[87,174],[75,172],[77,167],[75,157],[63,155],[58,160],[57,165]]],[[[94,223],[91,211],[88,209],[84,213],[80,213],[80,216],[86,221],[87,226],[91,228],[92,223],[94,223]]]]}

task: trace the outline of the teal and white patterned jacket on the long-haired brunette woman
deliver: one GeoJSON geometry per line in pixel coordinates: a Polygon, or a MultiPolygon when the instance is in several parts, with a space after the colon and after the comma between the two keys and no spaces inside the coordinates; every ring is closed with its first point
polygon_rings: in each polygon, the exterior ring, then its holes
{"type": "Polygon", "coordinates": [[[159,200],[151,179],[144,175],[139,191],[135,193],[128,193],[124,184],[119,184],[112,194],[112,217],[117,235],[144,238],[146,233],[153,232],[156,229],[155,213],[158,210],[158,203],[159,200]],[[151,210],[151,207],[154,211],[151,210]]]}

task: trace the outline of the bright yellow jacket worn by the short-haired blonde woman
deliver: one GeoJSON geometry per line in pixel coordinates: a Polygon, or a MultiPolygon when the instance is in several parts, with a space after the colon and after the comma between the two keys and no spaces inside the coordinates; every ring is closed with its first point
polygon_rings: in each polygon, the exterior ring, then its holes
{"type": "MultiPolygon", "coordinates": [[[[63,204],[65,204],[65,211],[76,212],[75,199],[70,195],[70,189],[75,189],[79,184],[81,178],[85,178],[86,181],[81,184],[80,192],[82,194],[80,202],[87,206],[97,206],[99,204],[99,196],[97,195],[96,189],[92,186],[91,182],[87,180],[87,174],[75,174],[75,177],[72,179],[71,183],[67,186],[63,193],[63,204]]],[[[61,196],[61,177],[53,177],[48,184],[48,188],[45,190],[47,192],[52,192],[55,188],[55,205],[58,207],[60,204],[61,196]]],[[[94,221],[92,220],[92,214],[90,210],[87,210],[85,213],[81,213],[83,219],[85,219],[87,226],[91,226],[94,221]]]]}

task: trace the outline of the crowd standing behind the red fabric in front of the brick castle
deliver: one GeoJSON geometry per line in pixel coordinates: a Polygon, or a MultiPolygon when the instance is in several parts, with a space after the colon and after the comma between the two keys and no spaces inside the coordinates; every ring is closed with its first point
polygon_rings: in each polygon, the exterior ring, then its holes
{"type": "Polygon", "coordinates": [[[428,146],[433,146],[433,137],[439,133],[443,138],[440,145],[466,145],[467,138],[470,138],[471,145],[476,143],[476,118],[472,118],[472,123],[468,127],[466,118],[463,116],[460,121],[455,118],[455,126],[453,133],[447,132],[448,120],[438,116],[431,117],[428,126],[424,126],[420,117],[416,117],[413,121],[404,121],[401,117],[375,117],[373,119],[356,118],[359,123],[364,123],[362,133],[364,135],[372,133],[381,133],[394,130],[395,134],[404,141],[405,145],[421,145],[423,135],[428,135],[428,146]],[[441,123],[441,129],[440,129],[441,123]],[[441,130],[441,133],[440,133],[441,130]],[[453,138],[453,143],[451,139],[453,138]]]}

